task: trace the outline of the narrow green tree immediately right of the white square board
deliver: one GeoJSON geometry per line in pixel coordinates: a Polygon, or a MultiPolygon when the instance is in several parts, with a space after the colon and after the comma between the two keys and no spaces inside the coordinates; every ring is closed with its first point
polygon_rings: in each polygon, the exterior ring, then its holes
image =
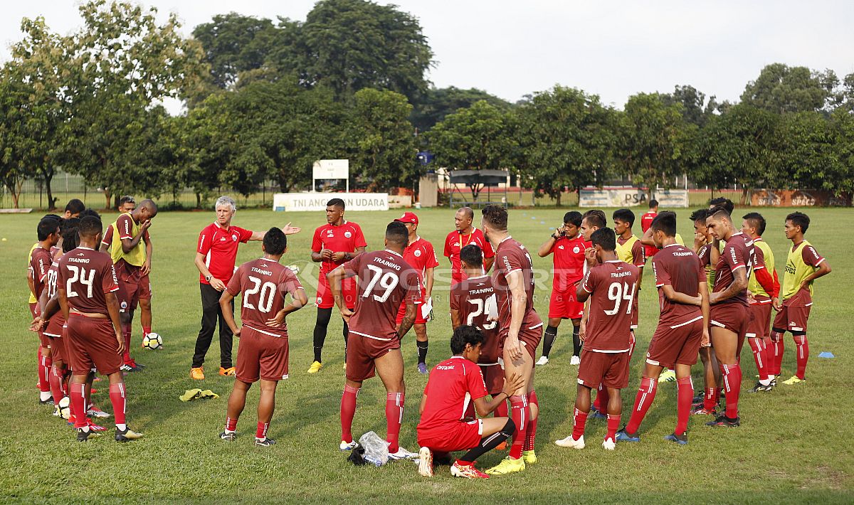
{"type": "Polygon", "coordinates": [[[370,88],[356,92],[349,131],[352,160],[361,180],[370,181],[370,191],[418,181],[421,171],[408,119],[411,112],[407,97],[400,93],[370,88]]]}

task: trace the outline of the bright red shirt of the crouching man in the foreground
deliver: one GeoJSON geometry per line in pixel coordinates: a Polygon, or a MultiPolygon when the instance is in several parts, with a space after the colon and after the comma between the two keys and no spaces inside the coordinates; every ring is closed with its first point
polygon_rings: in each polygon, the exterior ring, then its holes
{"type": "Polygon", "coordinates": [[[430,370],[427,401],[418,422],[418,431],[441,432],[462,421],[469,403],[487,395],[483,374],[477,364],[462,356],[454,356],[430,370]]]}

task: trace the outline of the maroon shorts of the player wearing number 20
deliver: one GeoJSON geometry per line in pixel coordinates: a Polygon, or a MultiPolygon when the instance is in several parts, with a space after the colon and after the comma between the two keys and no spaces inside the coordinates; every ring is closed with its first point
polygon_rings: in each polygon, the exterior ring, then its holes
{"type": "Polygon", "coordinates": [[[288,378],[288,338],[274,337],[243,325],[237,345],[237,380],[255,382],[288,378]]]}

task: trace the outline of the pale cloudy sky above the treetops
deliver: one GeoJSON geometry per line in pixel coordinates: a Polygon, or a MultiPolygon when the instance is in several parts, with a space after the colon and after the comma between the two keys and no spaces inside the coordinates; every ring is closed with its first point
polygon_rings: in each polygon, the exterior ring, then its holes
{"type": "MultiPolygon", "coordinates": [[[[389,3],[379,0],[378,3],[389,3]]],[[[420,21],[436,87],[478,88],[516,102],[554,84],[623,107],[638,92],[690,84],[736,102],[748,81],[775,62],[839,78],[854,73],[854,2],[635,0],[397,0],[420,21]]],[[[190,35],[213,15],[236,11],[305,20],[314,0],[144,0],[174,12],[190,35]]],[[[23,17],[44,16],[62,34],[81,25],[78,2],[3,3],[0,61],[21,38],[23,17]]]]}

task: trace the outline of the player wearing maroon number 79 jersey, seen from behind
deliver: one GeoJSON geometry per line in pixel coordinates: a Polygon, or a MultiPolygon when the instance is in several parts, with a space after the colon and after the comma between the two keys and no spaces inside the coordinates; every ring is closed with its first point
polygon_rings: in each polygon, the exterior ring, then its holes
{"type": "Polygon", "coordinates": [[[415,322],[415,302],[421,298],[418,272],[403,259],[409,233],[403,223],[392,221],[385,229],[385,249],[362,253],[336,267],[327,276],[338,310],[348,323],[347,380],[341,397],[341,444],[339,449],[352,450],[353,416],[356,396],[362,382],[379,374],[385,386],[385,417],[389,458],[414,459],[416,453],[402,448],[398,436],[403,422],[406,386],[403,382],[401,337],[415,322]],[[358,298],[351,311],[342,293],[342,281],[358,276],[358,298]],[[407,304],[407,312],[395,324],[398,307],[407,304]]]}

